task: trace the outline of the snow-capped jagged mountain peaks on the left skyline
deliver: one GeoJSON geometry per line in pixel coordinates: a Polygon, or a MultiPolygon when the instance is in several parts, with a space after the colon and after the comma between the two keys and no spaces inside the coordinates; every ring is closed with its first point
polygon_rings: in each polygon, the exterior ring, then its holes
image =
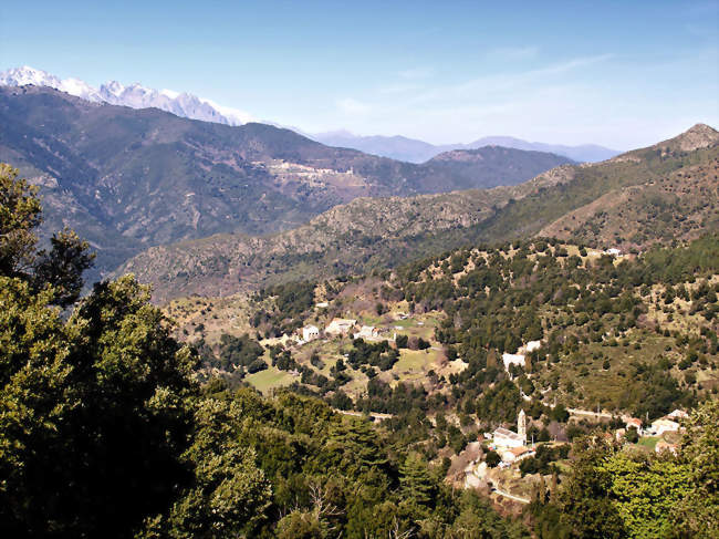
{"type": "Polygon", "coordinates": [[[243,111],[218,105],[217,103],[171,90],[154,90],[137,83],[124,86],[111,81],[94,89],[77,79],[59,77],[30,66],[14,68],[0,73],[0,85],[4,86],[50,86],[71,95],[95,103],[129,106],[133,108],[156,107],[190,120],[215,122],[227,125],[242,125],[252,122],[252,116],[243,111]]]}

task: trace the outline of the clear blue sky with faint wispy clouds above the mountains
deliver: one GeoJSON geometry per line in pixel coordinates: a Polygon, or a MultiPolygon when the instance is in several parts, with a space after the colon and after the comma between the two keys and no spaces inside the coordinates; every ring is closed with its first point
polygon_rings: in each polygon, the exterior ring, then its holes
{"type": "Polygon", "coordinates": [[[433,143],[625,149],[719,125],[719,1],[105,3],[3,0],[0,70],[433,143]]]}

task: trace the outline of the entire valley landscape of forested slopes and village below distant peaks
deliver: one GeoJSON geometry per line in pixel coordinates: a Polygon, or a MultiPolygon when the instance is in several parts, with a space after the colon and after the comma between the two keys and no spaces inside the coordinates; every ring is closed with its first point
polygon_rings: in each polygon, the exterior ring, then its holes
{"type": "Polygon", "coordinates": [[[39,86],[0,118],[0,531],[711,537],[712,127],[413,164],[39,86]]]}

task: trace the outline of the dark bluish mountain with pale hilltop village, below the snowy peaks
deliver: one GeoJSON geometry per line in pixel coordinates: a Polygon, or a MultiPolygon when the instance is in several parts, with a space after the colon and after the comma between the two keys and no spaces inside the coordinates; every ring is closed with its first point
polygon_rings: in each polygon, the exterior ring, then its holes
{"type": "Polygon", "coordinates": [[[286,230],[356,197],[515,185],[571,163],[492,146],[416,165],[38,85],[0,86],[0,160],[42,187],[45,232],[74,228],[101,271],[149,246],[286,230]]]}

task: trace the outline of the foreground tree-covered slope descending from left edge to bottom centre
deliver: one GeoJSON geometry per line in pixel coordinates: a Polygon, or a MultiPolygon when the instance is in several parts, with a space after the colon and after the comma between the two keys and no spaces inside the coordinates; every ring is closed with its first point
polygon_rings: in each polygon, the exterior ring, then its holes
{"type": "Polygon", "coordinates": [[[40,206],[7,166],[0,200],[3,537],[529,537],[363,418],[200,386],[146,287],[75,303],[87,245],[38,251],[40,206]]]}

